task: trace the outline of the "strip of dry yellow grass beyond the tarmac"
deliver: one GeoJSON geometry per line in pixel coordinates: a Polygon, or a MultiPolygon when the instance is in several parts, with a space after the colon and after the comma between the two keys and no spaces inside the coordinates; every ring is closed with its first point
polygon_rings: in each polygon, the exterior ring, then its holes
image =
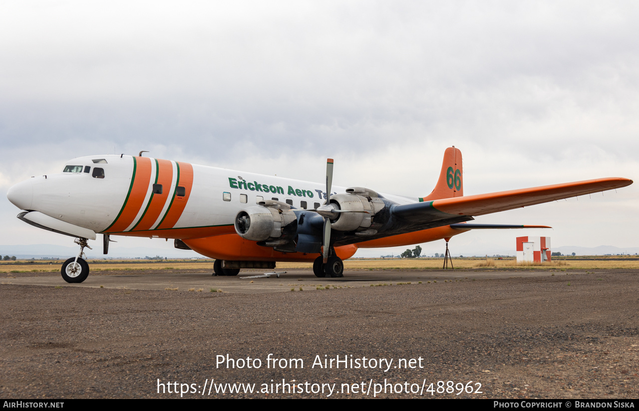
{"type": "MultiPolygon", "coordinates": [[[[498,260],[495,258],[453,258],[456,269],[639,269],[639,257],[627,260],[614,260],[614,257],[587,260],[566,258],[544,264],[517,264],[514,258],[498,260]]],[[[210,270],[213,260],[88,260],[91,271],[143,271],[155,269],[173,270],[210,270]]],[[[0,273],[51,273],[60,270],[63,260],[17,260],[0,262],[0,273]]],[[[403,258],[403,259],[351,259],[344,262],[347,270],[428,270],[442,269],[443,258],[403,258]]],[[[279,262],[277,269],[307,268],[306,262],[279,262]]]]}

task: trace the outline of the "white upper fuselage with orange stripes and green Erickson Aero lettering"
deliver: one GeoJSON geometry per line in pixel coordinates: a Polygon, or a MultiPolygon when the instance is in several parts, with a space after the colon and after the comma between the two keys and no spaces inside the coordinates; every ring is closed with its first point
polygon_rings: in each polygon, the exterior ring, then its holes
{"type": "MultiPolygon", "coordinates": [[[[207,227],[232,226],[240,209],[260,200],[314,209],[326,196],[321,183],[145,157],[80,157],[68,161],[65,169],[16,184],[8,198],[20,209],[96,233],[185,238],[184,230],[190,228],[199,230],[186,237],[206,235],[207,227]],[[154,185],[162,186],[161,194],[154,193],[154,185]],[[178,187],[183,192],[176,192],[178,187]]],[[[334,193],[345,190],[332,188],[334,193]]],[[[383,196],[397,204],[417,202],[417,198],[383,196]]]]}

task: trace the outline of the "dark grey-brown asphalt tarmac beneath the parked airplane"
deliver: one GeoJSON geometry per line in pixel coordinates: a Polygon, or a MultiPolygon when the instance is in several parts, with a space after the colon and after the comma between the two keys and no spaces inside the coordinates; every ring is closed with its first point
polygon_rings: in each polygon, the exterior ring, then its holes
{"type": "Polygon", "coordinates": [[[1,398],[639,396],[637,270],[24,274],[1,398]]]}

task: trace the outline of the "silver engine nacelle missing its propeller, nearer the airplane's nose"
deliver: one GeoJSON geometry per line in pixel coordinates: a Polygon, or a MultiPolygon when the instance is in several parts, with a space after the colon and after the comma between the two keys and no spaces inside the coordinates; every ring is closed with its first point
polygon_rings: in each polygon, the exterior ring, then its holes
{"type": "Polygon", "coordinates": [[[269,202],[263,207],[246,207],[235,216],[235,232],[247,240],[266,241],[287,237],[287,234],[295,234],[296,230],[297,217],[285,203],[269,202]]]}

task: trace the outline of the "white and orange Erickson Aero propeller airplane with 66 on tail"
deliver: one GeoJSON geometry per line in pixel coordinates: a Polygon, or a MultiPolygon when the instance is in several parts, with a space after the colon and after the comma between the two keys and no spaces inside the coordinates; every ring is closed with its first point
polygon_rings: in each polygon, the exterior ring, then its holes
{"type": "Polygon", "coordinates": [[[7,193],[20,220],[76,237],[80,252],[63,264],[65,281],[89,274],[88,240],[104,234],[174,239],[176,248],[215,258],[217,275],[272,269],[278,261],[314,261],[316,276],[340,277],[358,248],[406,246],[477,228],[549,228],[468,224],[473,216],[532,206],[632,184],[603,178],[482,195],[463,195],[461,151],[446,149],[426,197],[325,184],[124,154],[69,161],[61,174],[31,177],[7,193]]]}

